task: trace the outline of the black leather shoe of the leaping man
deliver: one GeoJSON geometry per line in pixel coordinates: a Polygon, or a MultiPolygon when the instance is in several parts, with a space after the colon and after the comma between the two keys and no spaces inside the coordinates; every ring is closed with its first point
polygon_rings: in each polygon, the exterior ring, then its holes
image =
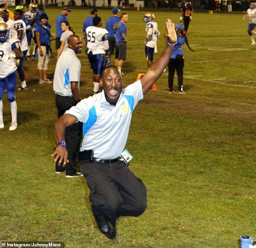
{"type": "Polygon", "coordinates": [[[100,231],[103,234],[105,234],[109,239],[115,238],[115,232],[113,231],[113,226],[107,221],[105,215],[97,214],[93,206],[91,206],[91,210],[100,231]]]}

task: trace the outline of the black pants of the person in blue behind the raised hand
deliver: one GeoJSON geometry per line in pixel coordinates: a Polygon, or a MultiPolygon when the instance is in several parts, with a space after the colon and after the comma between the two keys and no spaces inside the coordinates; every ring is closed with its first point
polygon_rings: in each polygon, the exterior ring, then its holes
{"type": "Polygon", "coordinates": [[[178,90],[183,91],[183,67],[184,67],[184,57],[183,55],[176,55],[176,58],[171,58],[168,63],[168,84],[169,91],[173,91],[173,79],[175,69],[178,76],[178,90]]]}

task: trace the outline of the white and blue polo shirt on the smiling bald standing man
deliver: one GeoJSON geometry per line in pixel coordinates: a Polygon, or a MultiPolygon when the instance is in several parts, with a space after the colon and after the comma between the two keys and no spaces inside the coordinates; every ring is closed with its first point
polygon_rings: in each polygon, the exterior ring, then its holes
{"type": "Polygon", "coordinates": [[[72,96],[71,82],[78,82],[80,85],[81,63],[76,53],[67,48],[59,57],[54,78],[53,91],[60,96],[72,96]]]}

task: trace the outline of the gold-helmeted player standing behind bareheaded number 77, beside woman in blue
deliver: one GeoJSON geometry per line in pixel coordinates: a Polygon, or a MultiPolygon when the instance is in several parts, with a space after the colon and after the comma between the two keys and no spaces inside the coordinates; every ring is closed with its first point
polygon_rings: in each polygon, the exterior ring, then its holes
{"type": "Polygon", "coordinates": [[[30,51],[29,51],[29,46],[31,44],[31,39],[33,38],[35,42],[35,46],[33,49],[32,56],[35,54],[35,47],[36,47],[36,10],[37,10],[37,4],[35,2],[32,2],[29,4],[29,11],[25,12],[25,19],[26,19],[26,25],[27,25],[27,44],[28,44],[28,49],[27,49],[27,60],[30,60],[30,51]]]}

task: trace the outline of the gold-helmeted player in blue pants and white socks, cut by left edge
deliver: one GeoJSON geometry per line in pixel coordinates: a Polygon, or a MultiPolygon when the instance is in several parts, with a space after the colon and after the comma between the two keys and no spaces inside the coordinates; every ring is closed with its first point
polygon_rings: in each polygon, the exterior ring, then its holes
{"type": "Polygon", "coordinates": [[[2,96],[6,89],[10,102],[12,123],[10,131],[17,129],[17,104],[15,100],[15,87],[17,66],[15,59],[22,59],[21,42],[9,38],[10,29],[6,23],[0,23],[0,128],[4,128],[2,96]]]}

